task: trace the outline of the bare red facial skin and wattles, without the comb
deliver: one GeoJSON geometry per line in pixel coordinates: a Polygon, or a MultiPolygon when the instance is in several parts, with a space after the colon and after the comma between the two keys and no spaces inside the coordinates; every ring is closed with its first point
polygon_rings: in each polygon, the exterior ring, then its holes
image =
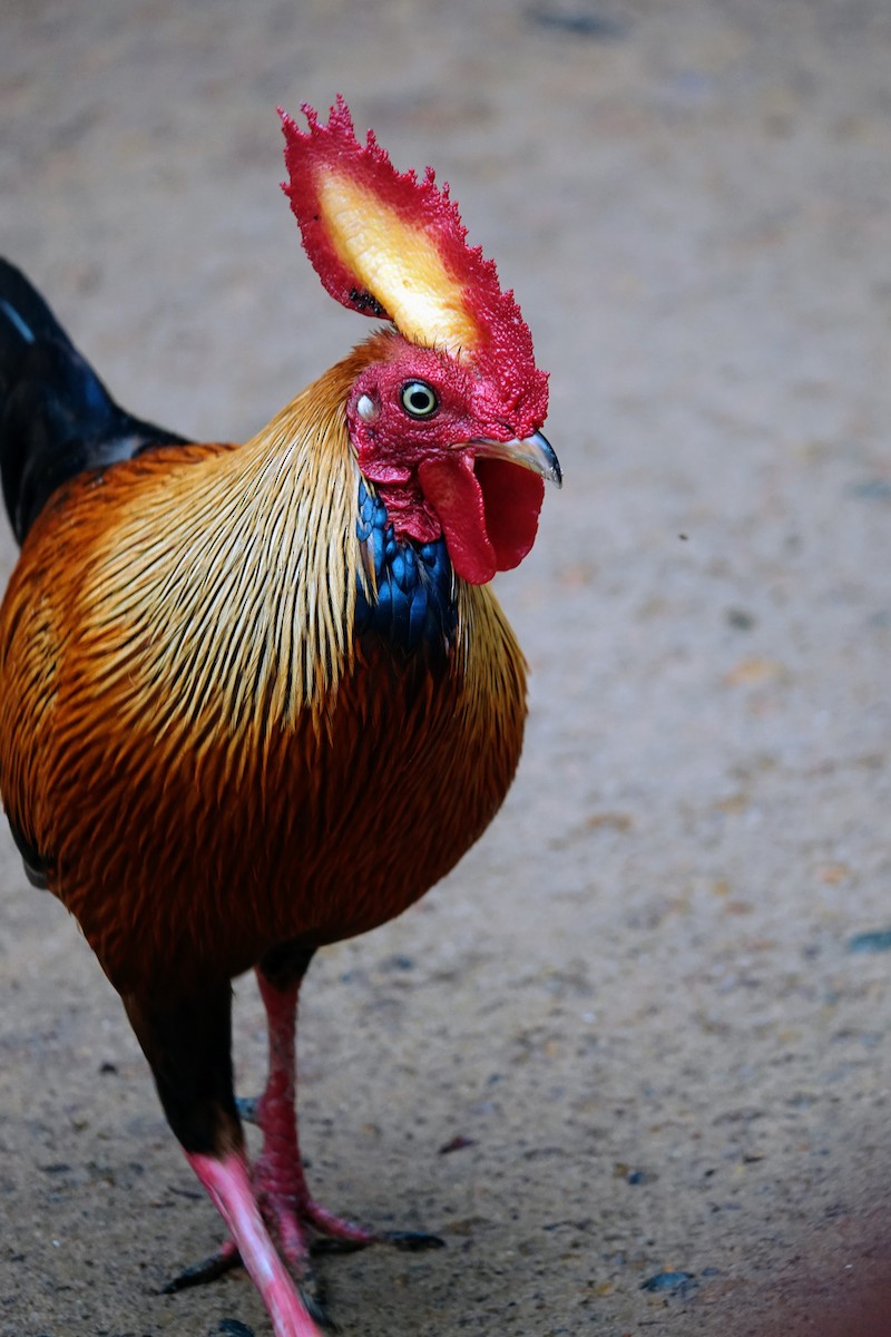
{"type": "Polygon", "coordinates": [[[358,464],[383,500],[398,539],[445,536],[457,575],[485,584],[518,566],[538,527],[544,480],[508,460],[480,457],[481,441],[530,436],[529,410],[504,413],[504,386],[435,349],[386,337],[386,356],[357,380],[347,402],[358,464]],[[438,406],[414,417],[402,404],[411,381],[429,385],[438,406]],[[359,404],[374,416],[367,420],[359,404]]]}

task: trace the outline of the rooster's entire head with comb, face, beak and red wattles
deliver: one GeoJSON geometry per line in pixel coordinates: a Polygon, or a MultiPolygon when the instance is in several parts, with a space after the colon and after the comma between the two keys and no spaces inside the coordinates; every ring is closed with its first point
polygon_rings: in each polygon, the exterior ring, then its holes
{"type": "Polygon", "coordinates": [[[306,253],[331,297],[394,326],[346,405],[359,468],[398,537],[443,535],[456,572],[482,584],[525,558],[544,479],[560,483],[529,326],[430,167],[397,172],[341,98],[325,126],[303,112],[306,131],[282,120],[306,253]]]}

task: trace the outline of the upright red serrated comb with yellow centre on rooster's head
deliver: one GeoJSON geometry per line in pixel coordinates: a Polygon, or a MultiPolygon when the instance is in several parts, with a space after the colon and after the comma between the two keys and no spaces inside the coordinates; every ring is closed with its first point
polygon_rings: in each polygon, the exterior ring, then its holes
{"type": "Polygon", "coordinates": [[[505,409],[522,402],[544,421],[546,377],[536,369],[529,328],[513,293],[501,290],[494,262],[468,246],[449,187],[435,185],[431,167],[422,179],[398,172],[373,131],[361,143],[339,95],[327,124],[313,107],[302,111],[306,131],[279,110],[289,171],[282,189],[331,297],[492,374],[505,409]]]}

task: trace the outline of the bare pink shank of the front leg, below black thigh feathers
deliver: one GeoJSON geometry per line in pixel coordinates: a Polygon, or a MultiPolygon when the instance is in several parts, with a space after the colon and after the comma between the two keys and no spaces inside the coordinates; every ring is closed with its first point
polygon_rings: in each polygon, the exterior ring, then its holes
{"type": "Polygon", "coordinates": [[[187,1154],[187,1161],[228,1226],[270,1313],[275,1337],[321,1337],[263,1225],[244,1155],[231,1151],[216,1159],[187,1154]]]}

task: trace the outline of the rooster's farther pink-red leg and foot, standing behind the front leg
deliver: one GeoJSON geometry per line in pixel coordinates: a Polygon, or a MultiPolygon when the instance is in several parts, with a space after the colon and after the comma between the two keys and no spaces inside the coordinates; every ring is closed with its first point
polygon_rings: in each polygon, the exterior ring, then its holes
{"type": "Polygon", "coordinates": [[[342,1221],[310,1195],[297,1135],[297,1000],[301,981],[277,988],[258,971],[269,1019],[269,1078],[256,1106],[263,1150],[254,1166],[258,1201],[275,1225],[285,1257],[298,1275],[309,1274],[306,1226],[354,1245],[381,1238],[351,1221],[342,1221]]]}

